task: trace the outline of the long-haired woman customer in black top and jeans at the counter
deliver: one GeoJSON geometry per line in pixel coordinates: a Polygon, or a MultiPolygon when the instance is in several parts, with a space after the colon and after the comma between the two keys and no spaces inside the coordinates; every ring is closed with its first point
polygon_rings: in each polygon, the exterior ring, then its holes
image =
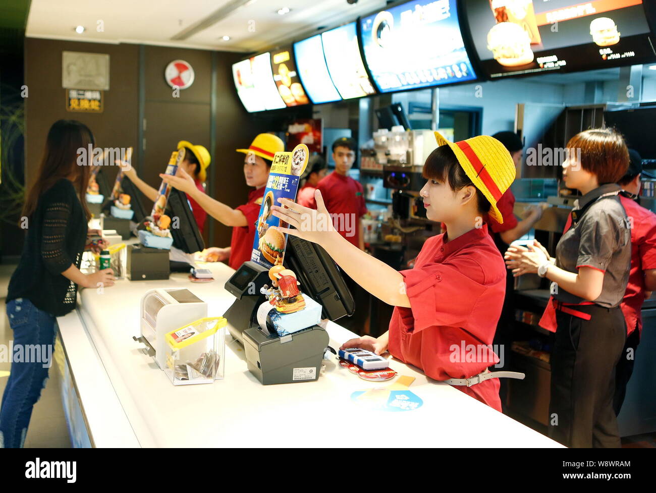
{"type": "Polygon", "coordinates": [[[112,286],[112,269],[79,271],[87,240],[86,191],[91,163],[78,166],[77,149],[94,146],[91,130],[79,121],[56,121],[48,132],[37,180],[22,216],[27,236],[9,282],[7,316],[14,348],[38,347],[41,361],[12,361],[0,407],[0,447],[25,443],[34,404],[52,361],[56,319],[75,308],[77,286],[112,286]],[[44,359],[45,358],[45,359],[44,359]]]}

